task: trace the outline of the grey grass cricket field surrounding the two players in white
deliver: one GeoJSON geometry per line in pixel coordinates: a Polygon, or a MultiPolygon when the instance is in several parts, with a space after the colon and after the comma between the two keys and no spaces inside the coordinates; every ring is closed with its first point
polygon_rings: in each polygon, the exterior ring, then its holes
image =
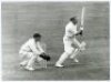
{"type": "Polygon", "coordinates": [[[109,2],[2,2],[2,79],[109,80],[109,2]],[[87,50],[80,63],[67,60],[63,69],[54,62],[63,52],[62,37],[70,17],[80,19],[84,6],[84,41],[87,50]],[[47,70],[29,72],[19,66],[19,49],[34,32],[40,32],[52,60],[47,70]]]}

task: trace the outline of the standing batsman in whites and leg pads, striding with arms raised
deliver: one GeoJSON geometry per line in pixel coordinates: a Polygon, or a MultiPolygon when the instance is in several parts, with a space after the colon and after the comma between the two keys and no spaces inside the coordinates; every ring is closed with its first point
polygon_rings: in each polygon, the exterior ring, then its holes
{"type": "Polygon", "coordinates": [[[64,43],[64,52],[61,54],[59,60],[56,63],[56,66],[62,68],[62,63],[68,59],[69,57],[71,59],[74,59],[75,62],[79,62],[79,60],[75,58],[77,53],[81,50],[84,50],[85,43],[80,43],[77,40],[77,35],[82,34],[83,27],[80,27],[80,30],[77,31],[78,28],[78,20],[75,17],[71,18],[69,23],[65,27],[65,33],[63,37],[63,43],[64,43]]]}

